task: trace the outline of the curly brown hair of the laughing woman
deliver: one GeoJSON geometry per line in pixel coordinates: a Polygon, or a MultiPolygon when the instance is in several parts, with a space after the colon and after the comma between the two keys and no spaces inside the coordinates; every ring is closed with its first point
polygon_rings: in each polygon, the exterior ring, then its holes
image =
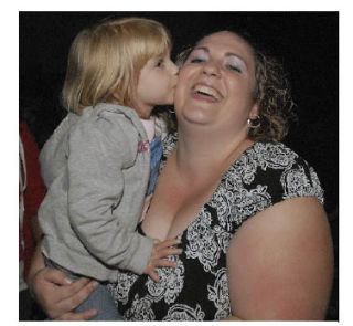
{"type": "MultiPolygon", "coordinates": [[[[292,108],[295,103],[290,94],[290,85],[282,64],[274,56],[265,55],[244,35],[234,31],[246,41],[254,53],[255,61],[255,94],[258,104],[259,126],[249,128],[248,138],[255,141],[279,141],[288,133],[289,122],[296,119],[292,108]]],[[[211,35],[213,33],[210,33],[211,35]]],[[[203,38],[204,39],[204,38],[203,38]]],[[[199,43],[199,42],[197,42],[199,43]]],[[[176,57],[176,64],[182,66],[194,46],[182,51],[176,57]]]]}

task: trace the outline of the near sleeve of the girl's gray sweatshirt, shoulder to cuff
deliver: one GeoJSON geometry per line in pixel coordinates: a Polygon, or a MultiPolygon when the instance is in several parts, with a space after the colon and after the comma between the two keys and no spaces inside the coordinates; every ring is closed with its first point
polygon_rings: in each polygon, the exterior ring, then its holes
{"type": "MultiPolygon", "coordinates": [[[[132,133],[129,138],[137,140],[137,136],[132,133]]],[[[136,159],[130,143],[117,124],[105,119],[81,123],[71,132],[68,214],[90,254],[107,265],[141,274],[153,241],[115,210],[125,189],[122,169],[136,159]]]]}

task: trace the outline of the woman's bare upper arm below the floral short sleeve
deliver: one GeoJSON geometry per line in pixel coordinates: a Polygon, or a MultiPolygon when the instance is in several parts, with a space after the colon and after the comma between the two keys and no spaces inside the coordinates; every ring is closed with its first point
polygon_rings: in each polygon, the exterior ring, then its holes
{"type": "Polygon", "coordinates": [[[277,203],[246,221],[227,253],[232,312],[240,319],[324,319],[333,250],[322,206],[277,203]]]}

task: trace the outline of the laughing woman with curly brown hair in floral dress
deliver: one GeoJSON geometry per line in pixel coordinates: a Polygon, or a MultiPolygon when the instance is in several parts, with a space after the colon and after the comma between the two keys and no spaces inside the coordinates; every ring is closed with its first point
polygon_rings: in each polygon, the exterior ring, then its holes
{"type": "MultiPolygon", "coordinates": [[[[171,257],[175,270],[158,270],[160,283],[121,273],[110,285],[127,319],[324,318],[332,244],[322,189],[312,168],[276,143],[291,103],[275,67],[228,31],[188,56],[175,92],[178,141],[165,141],[140,225],[151,238],[181,239],[183,253],[171,257]]],[[[93,311],[69,309],[92,283],[56,288],[62,275],[39,270],[32,288],[52,317],[89,318],[93,311]]]]}

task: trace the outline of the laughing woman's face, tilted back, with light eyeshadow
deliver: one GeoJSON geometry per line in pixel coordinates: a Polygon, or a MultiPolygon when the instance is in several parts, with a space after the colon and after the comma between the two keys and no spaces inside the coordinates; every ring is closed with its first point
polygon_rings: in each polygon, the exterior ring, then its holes
{"type": "Polygon", "coordinates": [[[195,46],[179,73],[175,112],[183,122],[244,130],[255,118],[252,48],[234,33],[211,34],[195,46]]]}

